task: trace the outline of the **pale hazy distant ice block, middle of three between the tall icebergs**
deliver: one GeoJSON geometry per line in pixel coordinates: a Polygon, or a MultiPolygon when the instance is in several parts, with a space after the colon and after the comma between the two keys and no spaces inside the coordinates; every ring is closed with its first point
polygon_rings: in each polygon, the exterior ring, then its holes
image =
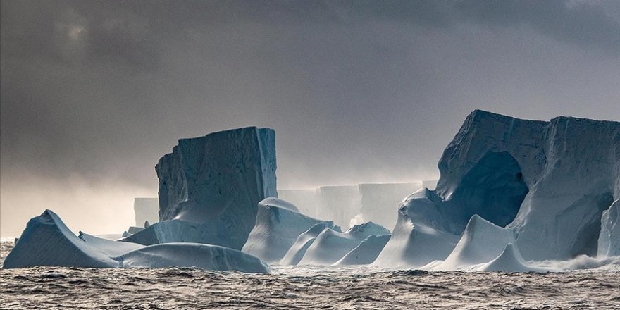
{"type": "Polygon", "coordinates": [[[357,185],[321,186],[318,196],[317,216],[334,221],[335,225],[348,228],[351,219],[359,213],[360,200],[357,185]]]}

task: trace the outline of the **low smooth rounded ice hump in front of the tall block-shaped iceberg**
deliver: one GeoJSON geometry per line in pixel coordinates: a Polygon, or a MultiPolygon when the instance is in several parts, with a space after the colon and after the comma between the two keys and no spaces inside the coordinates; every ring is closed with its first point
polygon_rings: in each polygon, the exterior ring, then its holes
{"type": "Polygon", "coordinates": [[[165,243],[143,247],[118,256],[125,268],[197,267],[211,271],[242,271],[267,273],[268,266],[260,259],[211,244],[165,243]]]}

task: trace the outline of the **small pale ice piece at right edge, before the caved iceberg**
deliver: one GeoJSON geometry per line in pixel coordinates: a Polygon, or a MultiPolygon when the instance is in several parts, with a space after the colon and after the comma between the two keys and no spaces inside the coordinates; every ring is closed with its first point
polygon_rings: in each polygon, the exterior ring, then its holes
{"type": "Polygon", "coordinates": [[[603,211],[597,256],[620,256],[620,200],[603,211]]]}

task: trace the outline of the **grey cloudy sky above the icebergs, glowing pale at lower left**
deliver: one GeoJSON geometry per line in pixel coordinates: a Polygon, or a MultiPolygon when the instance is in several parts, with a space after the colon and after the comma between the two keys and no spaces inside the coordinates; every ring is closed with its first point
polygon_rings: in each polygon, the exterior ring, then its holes
{"type": "Polygon", "coordinates": [[[274,128],[278,188],[439,177],[474,109],[620,120],[620,1],[1,1],[0,235],[120,233],[181,137],[274,128]]]}

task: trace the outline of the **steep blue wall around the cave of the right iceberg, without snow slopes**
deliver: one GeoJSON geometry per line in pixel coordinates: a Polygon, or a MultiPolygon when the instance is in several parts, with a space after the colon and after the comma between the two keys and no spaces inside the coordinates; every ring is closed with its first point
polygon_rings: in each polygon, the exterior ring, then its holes
{"type": "Polygon", "coordinates": [[[595,255],[602,211],[620,195],[619,149],[619,122],[521,120],[476,110],[439,161],[435,193],[442,204],[463,211],[457,218],[450,212],[459,222],[453,228],[462,227],[467,213],[502,225],[488,216],[504,213],[507,221],[517,206],[508,227],[526,259],[595,255]],[[500,168],[503,175],[493,173],[500,168]]]}

